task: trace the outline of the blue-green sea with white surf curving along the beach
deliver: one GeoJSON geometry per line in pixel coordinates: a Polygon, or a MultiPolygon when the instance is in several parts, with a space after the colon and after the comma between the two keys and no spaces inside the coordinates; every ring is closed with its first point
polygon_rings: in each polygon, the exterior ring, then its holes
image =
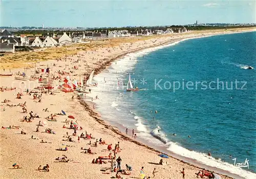
{"type": "Polygon", "coordinates": [[[170,154],[255,177],[256,70],[249,69],[256,67],[255,52],[250,32],[128,54],[95,76],[97,110],[170,154]],[[129,74],[139,91],[126,92],[129,74]],[[246,160],[249,166],[234,166],[246,160]]]}

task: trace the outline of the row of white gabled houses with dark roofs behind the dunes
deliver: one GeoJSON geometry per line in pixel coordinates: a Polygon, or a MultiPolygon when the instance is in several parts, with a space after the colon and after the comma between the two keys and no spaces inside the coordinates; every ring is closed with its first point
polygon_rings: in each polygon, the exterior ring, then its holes
{"type": "Polygon", "coordinates": [[[172,33],[184,33],[187,32],[186,28],[178,29],[166,29],[163,30],[122,30],[122,31],[94,31],[94,32],[58,32],[58,33],[44,33],[42,36],[29,37],[26,35],[20,35],[14,37],[7,30],[0,32],[0,52],[14,52],[14,46],[32,46],[32,47],[53,47],[57,45],[65,45],[71,43],[79,43],[84,40],[102,40],[106,38],[118,38],[129,36],[150,36],[150,35],[162,35],[172,33]],[[9,49],[9,51],[7,50],[9,49]]]}

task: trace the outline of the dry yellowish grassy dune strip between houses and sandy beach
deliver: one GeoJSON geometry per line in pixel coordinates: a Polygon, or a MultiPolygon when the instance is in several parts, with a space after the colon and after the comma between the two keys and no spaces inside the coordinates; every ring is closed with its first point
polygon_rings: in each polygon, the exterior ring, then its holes
{"type": "MultiPolygon", "coordinates": [[[[207,30],[207,31],[193,31],[193,34],[206,33],[206,32],[231,32],[231,31],[246,31],[252,28],[243,28],[243,29],[228,29],[228,30],[207,30]]],[[[165,36],[182,36],[184,34],[169,34],[169,35],[154,35],[154,36],[139,36],[139,37],[125,37],[125,38],[114,38],[104,41],[91,41],[90,43],[77,43],[71,44],[68,46],[61,47],[51,47],[41,51],[32,51],[32,52],[16,52],[5,54],[1,58],[1,68],[20,68],[24,66],[26,62],[37,62],[37,61],[47,61],[54,60],[59,57],[66,55],[76,54],[79,51],[86,51],[91,49],[97,49],[101,47],[110,47],[118,46],[122,43],[133,43],[141,40],[148,40],[154,38],[161,38],[165,36]]]]}

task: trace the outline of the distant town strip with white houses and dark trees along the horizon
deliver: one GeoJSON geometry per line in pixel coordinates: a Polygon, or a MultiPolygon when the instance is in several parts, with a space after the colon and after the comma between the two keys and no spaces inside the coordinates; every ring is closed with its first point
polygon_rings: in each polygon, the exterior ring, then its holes
{"type": "Polygon", "coordinates": [[[0,53],[34,50],[73,43],[87,43],[93,40],[124,38],[130,36],[151,36],[173,33],[188,33],[195,30],[229,29],[255,27],[256,24],[206,23],[198,21],[190,25],[157,27],[109,27],[109,28],[45,28],[42,27],[0,27],[0,53]]]}

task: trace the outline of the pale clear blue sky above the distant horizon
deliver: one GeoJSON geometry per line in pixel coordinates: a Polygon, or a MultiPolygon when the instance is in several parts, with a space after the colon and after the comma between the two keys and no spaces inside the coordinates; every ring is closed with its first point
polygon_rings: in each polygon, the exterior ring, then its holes
{"type": "Polygon", "coordinates": [[[256,1],[0,0],[0,27],[256,23],[256,1]]]}

